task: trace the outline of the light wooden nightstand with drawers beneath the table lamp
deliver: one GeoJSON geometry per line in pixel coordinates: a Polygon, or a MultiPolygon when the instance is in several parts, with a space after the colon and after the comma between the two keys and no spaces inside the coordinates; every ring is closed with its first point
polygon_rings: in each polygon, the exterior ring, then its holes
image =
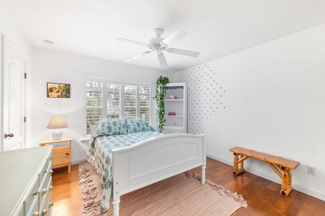
{"type": "Polygon", "coordinates": [[[52,168],[61,166],[68,166],[68,173],[71,172],[71,142],[72,136],[62,137],[58,140],[43,139],[39,145],[45,146],[47,144],[59,143],[59,142],[70,142],[69,146],[55,147],[52,149],[52,168]]]}

